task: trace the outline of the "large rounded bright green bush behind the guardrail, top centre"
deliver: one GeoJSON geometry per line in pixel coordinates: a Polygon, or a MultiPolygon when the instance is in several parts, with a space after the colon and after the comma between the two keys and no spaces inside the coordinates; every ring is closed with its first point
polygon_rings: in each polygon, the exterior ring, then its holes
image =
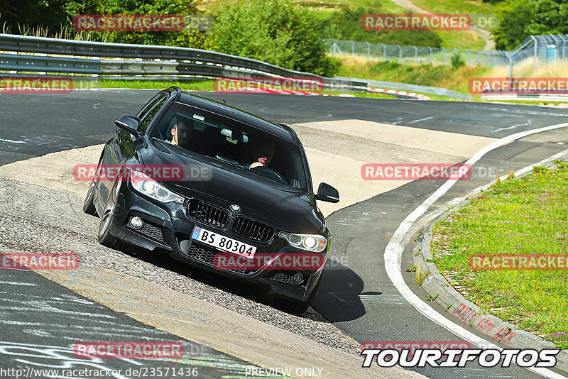
{"type": "Polygon", "coordinates": [[[314,13],[291,0],[239,1],[216,17],[212,41],[222,53],[333,76],[340,63],[326,55],[315,24],[314,13]]]}

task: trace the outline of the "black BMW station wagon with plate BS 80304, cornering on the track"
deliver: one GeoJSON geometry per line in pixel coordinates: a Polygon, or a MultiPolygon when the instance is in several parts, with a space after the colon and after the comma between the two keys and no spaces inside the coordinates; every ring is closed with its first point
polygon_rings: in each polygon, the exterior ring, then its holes
{"type": "Polygon", "coordinates": [[[317,201],[339,194],[326,183],[314,193],[290,126],[178,87],[115,123],[97,167],[120,175],[96,175],[84,201],[84,212],[100,216],[99,243],[164,251],[262,285],[278,307],[305,312],[331,237],[317,201]],[[280,263],[317,265],[271,264],[284,256],[280,263]]]}

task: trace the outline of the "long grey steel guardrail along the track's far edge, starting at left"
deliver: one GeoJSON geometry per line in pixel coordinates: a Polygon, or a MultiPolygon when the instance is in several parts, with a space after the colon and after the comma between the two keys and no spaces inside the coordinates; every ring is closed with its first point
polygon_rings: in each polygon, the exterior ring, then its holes
{"type": "MultiPolygon", "coordinates": [[[[172,46],[102,43],[0,34],[0,52],[18,53],[0,54],[0,70],[4,71],[126,76],[168,75],[170,77],[181,75],[313,77],[322,80],[328,89],[366,92],[367,87],[373,86],[442,94],[457,99],[471,99],[468,95],[449,89],[350,77],[320,77],[309,72],[288,70],[251,58],[172,46]]],[[[143,80],[144,77],[140,79],[143,80]]]]}

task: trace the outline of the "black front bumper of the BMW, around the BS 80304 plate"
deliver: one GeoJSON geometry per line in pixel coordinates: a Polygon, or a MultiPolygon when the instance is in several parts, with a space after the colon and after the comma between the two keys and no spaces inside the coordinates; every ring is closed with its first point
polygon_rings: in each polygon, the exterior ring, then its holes
{"type": "MultiPolygon", "coordinates": [[[[153,199],[143,197],[131,188],[129,182],[121,186],[118,202],[111,221],[110,234],[121,241],[133,246],[145,248],[149,251],[163,251],[172,258],[182,260],[190,265],[209,270],[218,275],[236,278],[263,286],[268,295],[287,297],[293,300],[305,301],[317,285],[323,268],[319,270],[273,270],[260,268],[258,270],[221,270],[214,265],[214,256],[222,253],[218,249],[192,240],[190,238],[194,226],[212,230],[212,226],[192,219],[186,205],[178,203],[160,203],[153,199]],[[141,229],[134,229],[129,220],[133,216],[143,221],[141,229]],[[294,284],[292,276],[302,273],[305,280],[294,284]]],[[[219,234],[234,238],[238,241],[256,246],[257,251],[273,253],[278,256],[282,253],[293,252],[293,248],[283,239],[274,236],[267,243],[258,243],[248,238],[231,234],[229,230],[219,230],[219,234]]],[[[324,251],[322,255],[325,255],[324,251]]]]}

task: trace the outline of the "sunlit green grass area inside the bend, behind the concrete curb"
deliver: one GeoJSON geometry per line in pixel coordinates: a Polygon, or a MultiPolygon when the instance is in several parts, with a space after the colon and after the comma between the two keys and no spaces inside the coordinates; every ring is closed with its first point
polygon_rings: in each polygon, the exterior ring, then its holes
{"type": "Polygon", "coordinates": [[[484,312],[568,348],[565,270],[478,270],[472,254],[566,254],[568,163],[495,185],[439,222],[432,255],[442,275],[484,312]]]}

